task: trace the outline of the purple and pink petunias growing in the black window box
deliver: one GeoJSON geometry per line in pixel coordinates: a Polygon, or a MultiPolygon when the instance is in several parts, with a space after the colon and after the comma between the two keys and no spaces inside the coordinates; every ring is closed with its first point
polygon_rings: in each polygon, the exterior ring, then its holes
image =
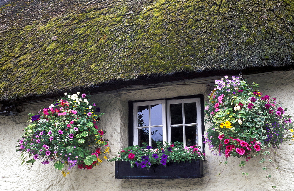
{"type": "Polygon", "coordinates": [[[162,142],[157,143],[157,148],[152,149],[143,143],[143,147],[129,146],[118,152],[119,157],[114,157],[108,161],[130,161],[131,167],[135,165],[141,168],[150,168],[153,164],[166,165],[168,162],[189,161],[196,159],[204,160],[205,154],[199,151],[199,148],[194,146],[183,146],[183,143],[175,142],[173,144],[162,145],[162,142]]]}

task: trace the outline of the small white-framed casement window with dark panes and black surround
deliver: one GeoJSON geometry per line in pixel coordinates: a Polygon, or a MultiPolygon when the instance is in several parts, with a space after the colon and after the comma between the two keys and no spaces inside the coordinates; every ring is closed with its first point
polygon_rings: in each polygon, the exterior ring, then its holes
{"type": "Polygon", "coordinates": [[[129,144],[142,146],[143,142],[146,142],[156,148],[157,141],[179,141],[186,146],[197,144],[203,148],[204,115],[201,112],[203,110],[201,103],[203,96],[131,101],[129,106],[130,109],[132,108],[132,123],[129,144]]]}

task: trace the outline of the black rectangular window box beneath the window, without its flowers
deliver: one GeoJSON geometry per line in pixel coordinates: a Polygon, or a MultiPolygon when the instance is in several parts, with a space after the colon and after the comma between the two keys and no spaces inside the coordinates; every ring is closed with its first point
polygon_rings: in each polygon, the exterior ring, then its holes
{"type": "Polygon", "coordinates": [[[149,169],[131,168],[128,161],[115,161],[115,178],[154,179],[154,178],[202,178],[203,161],[197,159],[189,163],[169,162],[166,166],[152,165],[149,169]]]}

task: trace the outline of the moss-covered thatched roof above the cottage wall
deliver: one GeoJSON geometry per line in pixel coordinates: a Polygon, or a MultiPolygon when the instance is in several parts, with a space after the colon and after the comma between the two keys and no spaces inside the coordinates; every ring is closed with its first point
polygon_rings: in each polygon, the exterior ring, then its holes
{"type": "Polygon", "coordinates": [[[293,15],[293,0],[10,1],[0,7],[0,100],[290,66],[293,15]]]}

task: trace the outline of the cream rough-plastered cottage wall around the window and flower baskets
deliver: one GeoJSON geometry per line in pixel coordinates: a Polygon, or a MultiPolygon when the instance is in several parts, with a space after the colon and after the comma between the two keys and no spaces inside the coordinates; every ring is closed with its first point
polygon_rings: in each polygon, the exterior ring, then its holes
{"type": "MultiPolygon", "coordinates": [[[[162,84],[164,86],[140,86],[121,89],[113,92],[100,93],[92,96],[92,100],[105,114],[99,124],[106,131],[110,144],[109,157],[128,145],[128,101],[152,100],[203,94],[208,95],[215,76],[207,79],[180,81],[162,84]],[[204,84],[202,80],[208,80],[204,84]],[[201,82],[200,82],[201,81],[201,82]],[[193,83],[193,84],[189,84],[193,83]],[[185,84],[185,85],[181,85],[185,84]]],[[[246,76],[251,82],[260,84],[260,91],[287,107],[287,114],[294,113],[294,74],[293,71],[281,71],[261,76],[246,76]]],[[[207,99],[206,99],[207,101],[207,99]]],[[[249,173],[248,181],[238,170],[240,159],[228,158],[223,174],[216,176],[223,169],[220,156],[214,156],[207,147],[204,161],[204,177],[198,179],[115,179],[114,163],[103,162],[92,170],[74,169],[63,177],[51,165],[36,163],[31,170],[27,166],[19,166],[17,160],[20,153],[15,152],[17,139],[21,130],[28,125],[28,113],[36,113],[41,107],[50,105],[51,101],[24,105],[24,112],[17,116],[0,116],[0,190],[272,190],[265,179],[265,171],[261,169],[260,159],[251,159],[245,166],[249,173]]],[[[275,167],[266,163],[272,175],[273,185],[277,190],[293,190],[294,165],[292,163],[294,146],[282,146],[271,157],[275,167]]]]}

